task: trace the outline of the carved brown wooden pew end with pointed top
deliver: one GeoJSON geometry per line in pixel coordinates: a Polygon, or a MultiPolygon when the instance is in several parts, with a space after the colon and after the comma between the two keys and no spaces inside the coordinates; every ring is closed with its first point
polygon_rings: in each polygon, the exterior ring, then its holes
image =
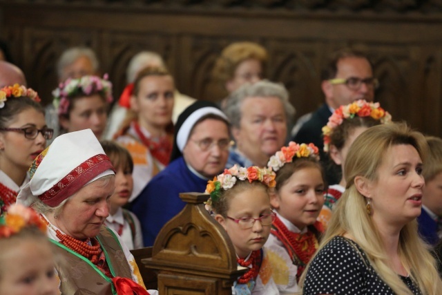
{"type": "Polygon", "coordinates": [[[204,208],[209,195],[181,193],[180,198],[186,207],[164,225],[152,256],[142,258],[145,249],[137,253],[140,271],[157,272],[160,295],[231,294],[233,282],[247,269],[237,267],[229,236],[204,208]]]}

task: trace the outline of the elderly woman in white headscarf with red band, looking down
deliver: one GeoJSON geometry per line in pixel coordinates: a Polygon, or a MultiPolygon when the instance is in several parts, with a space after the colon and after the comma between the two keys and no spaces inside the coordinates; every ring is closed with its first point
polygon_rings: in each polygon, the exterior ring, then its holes
{"type": "MultiPolygon", "coordinates": [[[[103,226],[115,173],[90,129],[67,133],[30,167],[17,198],[48,224],[62,294],[148,294],[130,251],[103,226]]],[[[153,292],[151,294],[156,294],[153,292]]]]}

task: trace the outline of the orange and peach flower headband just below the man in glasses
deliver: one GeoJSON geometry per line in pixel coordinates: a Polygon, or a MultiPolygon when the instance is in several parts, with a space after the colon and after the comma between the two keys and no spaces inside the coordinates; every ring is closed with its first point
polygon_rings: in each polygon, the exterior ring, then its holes
{"type": "Polygon", "coordinates": [[[333,130],[340,124],[343,124],[345,119],[352,119],[356,116],[372,117],[374,120],[380,120],[381,124],[392,122],[392,115],[381,108],[378,102],[366,102],[363,99],[359,99],[352,104],[340,106],[334,110],[332,116],[329,117],[329,122],[323,127],[325,152],[329,151],[330,135],[333,133],[333,130]]]}

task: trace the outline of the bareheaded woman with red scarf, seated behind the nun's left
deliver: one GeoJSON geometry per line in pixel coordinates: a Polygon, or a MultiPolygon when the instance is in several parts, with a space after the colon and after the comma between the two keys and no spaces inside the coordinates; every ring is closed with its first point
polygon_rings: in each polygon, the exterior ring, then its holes
{"type": "Polygon", "coordinates": [[[151,178],[169,164],[174,92],[173,77],[160,67],[144,68],[133,83],[131,113],[115,135],[115,140],[128,149],[134,162],[131,202],[151,178]]]}

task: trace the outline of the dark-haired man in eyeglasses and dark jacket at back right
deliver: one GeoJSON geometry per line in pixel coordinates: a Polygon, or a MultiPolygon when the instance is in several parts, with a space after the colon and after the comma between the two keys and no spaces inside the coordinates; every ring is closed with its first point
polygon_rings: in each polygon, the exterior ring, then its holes
{"type": "MultiPolygon", "coordinates": [[[[300,117],[291,135],[295,142],[313,142],[318,146],[320,158],[324,161],[323,126],[339,106],[358,99],[372,102],[378,80],[373,77],[372,65],[367,56],[352,48],[344,48],[333,53],[325,65],[321,79],[325,103],[313,113],[300,117]]],[[[333,180],[329,177],[329,181],[333,180]]],[[[338,182],[338,178],[336,181],[338,182]]]]}

